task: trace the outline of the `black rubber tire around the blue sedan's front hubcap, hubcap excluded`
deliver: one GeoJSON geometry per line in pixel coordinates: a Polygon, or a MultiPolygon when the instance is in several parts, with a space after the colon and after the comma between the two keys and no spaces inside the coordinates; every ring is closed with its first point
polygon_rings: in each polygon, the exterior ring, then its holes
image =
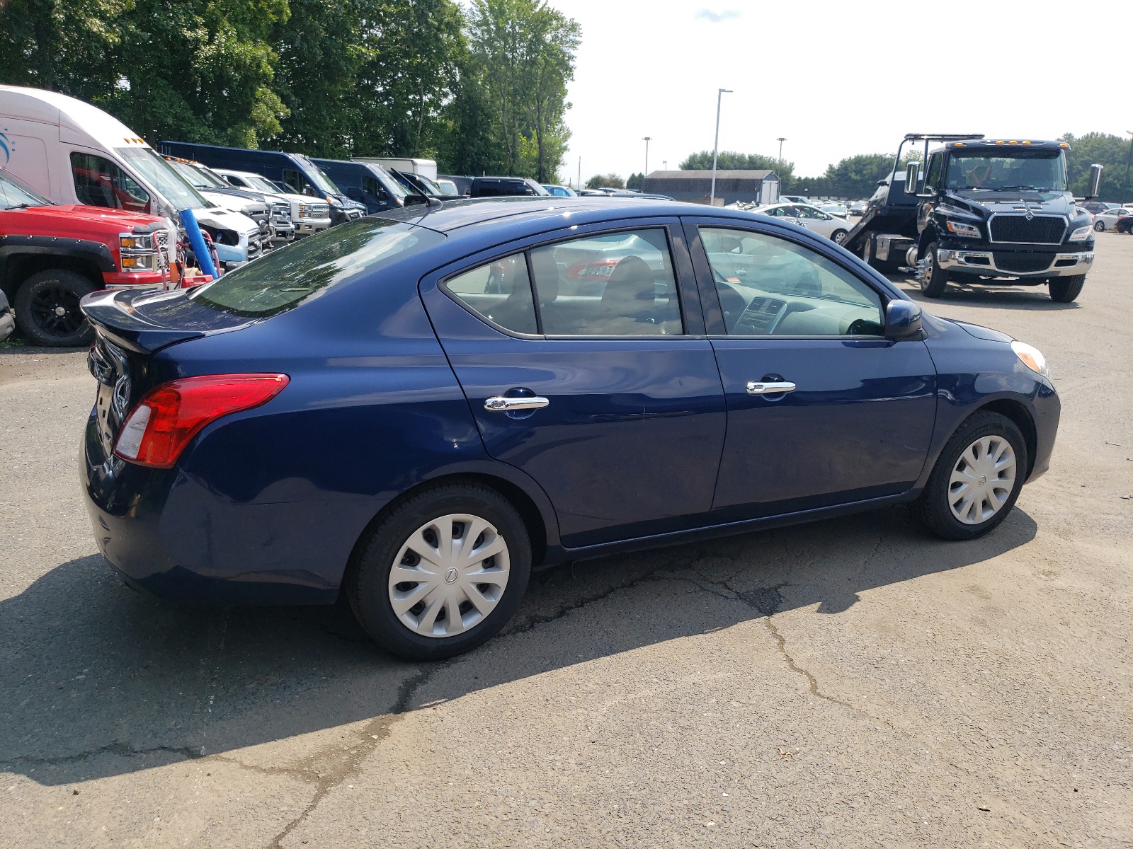
{"type": "Polygon", "coordinates": [[[913,509],[926,528],[946,540],[973,540],[982,537],[1006,518],[1015,506],[1029,469],[1026,441],[1015,422],[1006,415],[993,412],[977,412],[970,415],[944,446],[936,466],[929,475],[925,491],[913,504],[913,509]],[[960,463],[961,455],[983,437],[1006,439],[1015,453],[1015,481],[1007,499],[989,518],[978,524],[966,524],[957,520],[949,506],[952,472],[960,463]]]}

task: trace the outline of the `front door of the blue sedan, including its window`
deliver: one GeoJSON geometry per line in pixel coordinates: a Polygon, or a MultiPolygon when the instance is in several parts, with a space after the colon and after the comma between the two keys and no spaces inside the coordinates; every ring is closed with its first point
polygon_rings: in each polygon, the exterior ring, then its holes
{"type": "Polygon", "coordinates": [[[838,257],[735,220],[685,220],[727,401],[714,508],[751,518],[908,490],[936,415],[923,342],[838,257]]]}

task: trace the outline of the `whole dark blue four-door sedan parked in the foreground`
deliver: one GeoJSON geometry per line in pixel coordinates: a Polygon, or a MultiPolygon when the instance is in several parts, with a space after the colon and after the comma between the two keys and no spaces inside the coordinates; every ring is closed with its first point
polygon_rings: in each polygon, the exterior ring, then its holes
{"type": "Polygon", "coordinates": [[[1030,345],[676,203],[408,207],[83,309],[107,558],[174,600],[344,592],[406,658],[484,642],[568,560],[900,501],[979,537],[1058,424],[1030,345]]]}

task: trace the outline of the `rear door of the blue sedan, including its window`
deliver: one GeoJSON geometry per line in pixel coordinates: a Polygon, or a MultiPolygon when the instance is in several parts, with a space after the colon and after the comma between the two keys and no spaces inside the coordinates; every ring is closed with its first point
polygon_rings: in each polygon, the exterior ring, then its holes
{"type": "Polygon", "coordinates": [[[543,487],[563,546],[704,522],[724,393],[679,221],[513,242],[421,297],[487,453],[543,487]]]}

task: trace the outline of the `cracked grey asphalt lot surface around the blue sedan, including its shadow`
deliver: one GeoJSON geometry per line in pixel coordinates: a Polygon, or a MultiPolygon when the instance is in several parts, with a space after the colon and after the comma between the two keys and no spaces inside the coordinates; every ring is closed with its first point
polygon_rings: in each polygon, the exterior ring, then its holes
{"type": "Polygon", "coordinates": [[[929,306],[1063,397],[989,537],[895,508],[568,565],[432,666],[342,607],[127,588],[84,353],[0,349],[0,847],[1133,846],[1133,238],[1097,252],[1079,305],[929,306]]]}

